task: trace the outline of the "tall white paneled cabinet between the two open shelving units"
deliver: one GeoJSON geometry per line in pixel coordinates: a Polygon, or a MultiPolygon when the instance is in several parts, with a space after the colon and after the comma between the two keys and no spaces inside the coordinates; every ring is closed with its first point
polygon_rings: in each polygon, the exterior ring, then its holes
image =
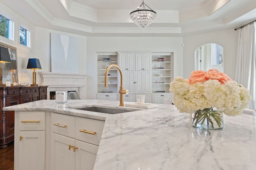
{"type": "Polygon", "coordinates": [[[136,102],[136,95],[143,94],[147,96],[145,102],[151,103],[151,53],[119,51],[118,61],[123,72],[123,86],[129,90],[129,95],[134,95],[124,100],[136,102]]]}

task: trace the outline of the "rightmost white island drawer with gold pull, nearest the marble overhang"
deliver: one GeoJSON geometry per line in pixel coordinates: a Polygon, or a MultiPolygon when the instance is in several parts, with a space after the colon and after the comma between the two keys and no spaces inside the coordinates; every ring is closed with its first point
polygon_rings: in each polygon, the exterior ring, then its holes
{"type": "Polygon", "coordinates": [[[76,117],[76,139],[99,145],[104,123],[100,120],[76,117]]]}

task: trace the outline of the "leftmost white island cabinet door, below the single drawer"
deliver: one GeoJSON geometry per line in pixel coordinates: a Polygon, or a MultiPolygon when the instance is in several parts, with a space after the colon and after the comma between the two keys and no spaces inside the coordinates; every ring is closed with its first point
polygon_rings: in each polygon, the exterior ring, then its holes
{"type": "Polygon", "coordinates": [[[18,141],[19,170],[44,170],[45,168],[45,132],[20,131],[18,141]]]}

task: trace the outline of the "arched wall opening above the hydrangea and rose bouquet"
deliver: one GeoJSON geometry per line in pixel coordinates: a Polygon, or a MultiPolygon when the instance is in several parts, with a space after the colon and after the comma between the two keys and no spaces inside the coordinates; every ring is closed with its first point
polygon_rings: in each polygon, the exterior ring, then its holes
{"type": "Polygon", "coordinates": [[[195,70],[208,71],[212,68],[224,72],[223,47],[216,43],[206,43],[195,51],[195,70]]]}

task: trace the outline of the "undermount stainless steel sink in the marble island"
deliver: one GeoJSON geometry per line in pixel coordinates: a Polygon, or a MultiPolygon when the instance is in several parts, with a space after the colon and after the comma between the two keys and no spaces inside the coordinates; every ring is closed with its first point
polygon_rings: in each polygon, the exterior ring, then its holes
{"type": "Polygon", "coordinates": [[[126,112],[130,112],[130,111],[140,110],[140,109],[122,110],[122,109],[111,109],[111,108],[95,107],[95,106],[75,108],[75,109],[86,110],[86,111],[94,111],[94,112],[100,112],[100,113],[108,113],[108,114],[126,113],[126,112]]]}

